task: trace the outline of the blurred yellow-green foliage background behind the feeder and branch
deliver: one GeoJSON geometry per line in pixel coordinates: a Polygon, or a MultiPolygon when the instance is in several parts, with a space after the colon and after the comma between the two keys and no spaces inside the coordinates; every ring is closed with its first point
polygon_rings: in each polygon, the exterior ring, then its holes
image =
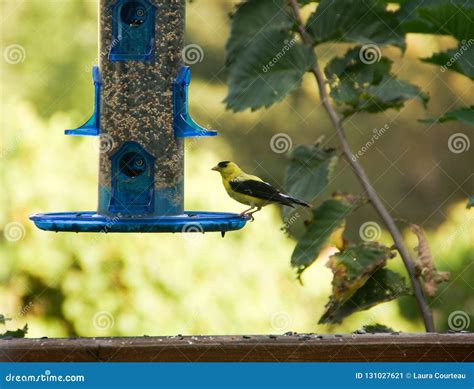
{"type": "MultiPolygon", "coordinates": [[[[225,239],[218,234],[54,234],[34,228],[31,213],[96,207],[97,142],[63,136],[92,111],[96,3],[0,1],[0,313],[13,319],[8,326],[28,323],[33,337],[342,332],[375,322],[421,331],[410,298],[355,314],[340,326],[318,326],[331,272],[321,258],[305,273],[304,286],[296,282],[289,263],[294,242],[281,230],[276,207],[225,239]],[[11,45],[21,47],[18,63],[6,60],[11,45]]],[[[309,76],[298,93],[270,109],[225,110],[224,45],[234,5],[206,0],[187,6],[187,43],[204,53],[192,66],[190,109],[199,123],[221,134],[188,141],[187,209],[243,209],[209,170],[220,160],[235,160],[281,187],[287,161],[270,148],[276,133],[287,133],[295,145],[321,135],[336,145],[309,76]]],[[[451,46],[449,38],[409,35],[403,56],[384,49],[400,78],[430,93],[427,112],[412,101],[400,112],[361,114],[347,123],[354,150],[374,128],[389,123],[388,135],[361,163],[395,217],[429,230],[438,268],[452,272],[431,301],[439,330],[448,328],[449,315],[458,310],[471,317],[470,329],[474,325],[474,211],[465,209],[474,192],[474,147],[454,154],[447,143],[457,132],[472,139],[472,129],[417,122],[473,104],[468,79],[418,59],[451,46]]],[[[346,48],[324,46],[320,57],[326,62],[346,48]]],[[[341,164],[339,170],[331,189],[360,191],[349,168],[341,164]]],[[[348,222],[349,238],[372,220],[379,222],[369,208],[358,211],[348,222]]],[[[407,238],[416,245],[408,232],[407,238]]],[[[390,244],[385,234],[382,240],[390,244]]],[[[392,266],[403,271],[399,259],[392,266]]]]}

